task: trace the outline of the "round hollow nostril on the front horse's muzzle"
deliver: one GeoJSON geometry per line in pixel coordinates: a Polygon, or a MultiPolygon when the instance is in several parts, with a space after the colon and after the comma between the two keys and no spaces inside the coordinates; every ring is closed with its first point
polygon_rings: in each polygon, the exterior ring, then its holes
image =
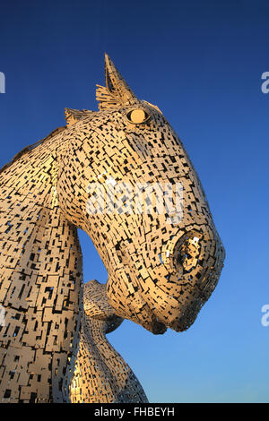
{"type": "Polygon", "coordinates": [[[191,231],[178,239],[171,256],[174,269],[188,273],[195,268],[201,254],[202,238],[200,233],[191,231]]]}

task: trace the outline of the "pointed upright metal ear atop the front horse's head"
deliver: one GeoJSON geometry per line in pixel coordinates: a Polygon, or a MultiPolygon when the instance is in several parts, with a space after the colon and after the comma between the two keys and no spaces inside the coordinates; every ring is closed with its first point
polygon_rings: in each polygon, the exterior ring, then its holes
{"type": "Polygon", "coordinates": [[[110,107],[133,105],[140,102],[107,54],[105,54],[105,73],[106,88],[96,85],[96,99],[99,102],[100,110],[110,107]]]}

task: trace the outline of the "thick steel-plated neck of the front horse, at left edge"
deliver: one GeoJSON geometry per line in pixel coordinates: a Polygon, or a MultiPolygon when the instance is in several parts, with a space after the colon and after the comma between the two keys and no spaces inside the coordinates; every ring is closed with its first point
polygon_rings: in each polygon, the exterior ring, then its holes
{"type": "Polygon", "coordinates": [[[0,174],[0,384],[9,385],[11,401],[63,400],[78,344],[82,253],[57,205],[52,152],[38,147],[0,174]],[[46,356],[55,356],[53,373],[46,356]],[[20,391],[13,370],[22,374],[20,391]]]}

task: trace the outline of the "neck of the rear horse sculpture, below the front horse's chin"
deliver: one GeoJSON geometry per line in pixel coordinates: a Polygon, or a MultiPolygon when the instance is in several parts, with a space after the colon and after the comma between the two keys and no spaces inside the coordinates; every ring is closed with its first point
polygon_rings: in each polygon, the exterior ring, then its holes
{"type": "Polygon", "coordinates": [[[148,402],[134,372],[108,342],[106,330],[106,321],[84,314],[70,387],[71,402],[148,402]]]}

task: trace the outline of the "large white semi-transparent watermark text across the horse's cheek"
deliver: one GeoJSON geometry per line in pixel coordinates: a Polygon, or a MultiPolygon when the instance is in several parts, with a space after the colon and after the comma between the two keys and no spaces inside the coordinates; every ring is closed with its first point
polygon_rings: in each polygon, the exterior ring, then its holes
{"type": "Polygon", "coordinates": [[[169,224],[183,219],[182,183],[117,183],[110,177],[106,185],[91,183],[87,189],[90,199],[86,204],[89,215],[147,214],[165,215],[169,224]]]}

